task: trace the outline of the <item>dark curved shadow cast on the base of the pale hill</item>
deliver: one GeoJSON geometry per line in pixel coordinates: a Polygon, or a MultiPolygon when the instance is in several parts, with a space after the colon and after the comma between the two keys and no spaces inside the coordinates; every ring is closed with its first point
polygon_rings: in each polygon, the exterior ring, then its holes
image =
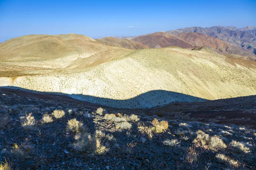
{"type": "Polygon", "coordinates": [[[207,99],[181,94],[172,91],[154,90],[148,91],[144,94],[140,94],[131,99],[119,100],[108,99],[103,97],[96,97],[83,94],[64,94],[58,92],[40,92],[15,86],[2,86],[1,88],[11,88],[23,91],[29,91],[32,93],[47,93],[47,94],[60,94],[70,96],[73,99],[79,99],[86,102],[96,103],[113,108],[153,108],[167,105],[172,102],[205,102],[207,99]]]}

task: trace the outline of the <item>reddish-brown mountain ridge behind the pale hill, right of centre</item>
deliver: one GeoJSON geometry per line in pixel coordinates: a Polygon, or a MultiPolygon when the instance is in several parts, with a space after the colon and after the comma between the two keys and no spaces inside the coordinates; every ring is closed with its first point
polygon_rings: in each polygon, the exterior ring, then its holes
{"type": "MultiPolygon", "coordinates": [[[[146,36],[140,36],[132,39],[141,42],[151,48],[177,46],[181,48],[197,48],[207,46],[213,48],[219,54],[237,54],[240,56],[254,56],[254,54],[241,47],[228,44],[218,38],[210,37],[205,34],[188,32],[180,34],[167,34],[165,32],[156,32],[146,36]]],[[[247,58],[247,57],[244,57],[247,58]]],[[[251,57],[256,59],[256,57],[251,57]]]]}

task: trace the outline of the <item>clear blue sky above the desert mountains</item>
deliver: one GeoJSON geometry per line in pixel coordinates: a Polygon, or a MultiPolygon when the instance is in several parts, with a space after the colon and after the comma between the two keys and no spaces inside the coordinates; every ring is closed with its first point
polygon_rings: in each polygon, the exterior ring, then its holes
{"type": "Polygon", "coordinates": [[[132,36],[256,26],[256,0],[0,0],[0,41],[27,34],[132,36]]]}

